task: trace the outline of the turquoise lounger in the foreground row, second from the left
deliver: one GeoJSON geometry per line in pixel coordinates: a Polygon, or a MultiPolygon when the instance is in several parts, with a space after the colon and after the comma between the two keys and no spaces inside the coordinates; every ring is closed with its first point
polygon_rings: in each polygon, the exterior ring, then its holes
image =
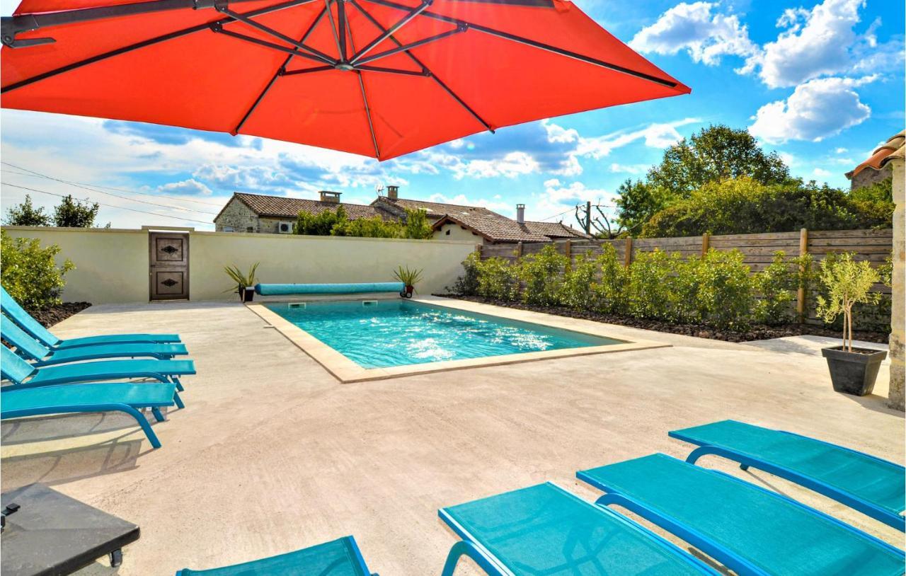
{"type": "Polygon", "coordinates": [[[494,576],[716,574],[660,536],[553,484],[439,511],[458,534],[442,576],[468,556],[494,576]]]}

